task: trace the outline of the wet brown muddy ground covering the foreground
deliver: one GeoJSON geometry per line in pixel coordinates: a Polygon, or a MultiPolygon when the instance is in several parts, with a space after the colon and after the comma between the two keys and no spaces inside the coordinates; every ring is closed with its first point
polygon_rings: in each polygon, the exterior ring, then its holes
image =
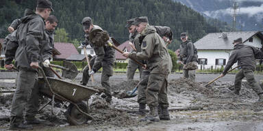
{"type": "MultiPolygon", "coordinates": [[[[118,81],[111,79],[112,93],[130,91],[138,83],[125,79],[125,75],[120,76],[118,81]]],[[[74,83],[79,81],[77,78],[74,83]]],[[[14,85],[13,80],[1,82],[6,85],[3,89],[10,89],[14,85]]],[[[127,99],[113,97],[112,103],[108,104],[103,99],[103,93],[96,93],[88,101],[89,114],[95,120],[88,121],[82,126],[69,126],[64,117],[66,109],[62,109],[54,116],[49,105],[38,114],[38,117],[47,119],[52,124],[35,126],[34,130],[263,130],[262,103],[256,102],[258,96],[245,81],[242,83],[239,96],[233,93],[234,83],[231,81],[216,81],[208,87],[204,86],[206,83],[202,81],[192,83],[185,78],[169,78],[171,121],[140,122],[142,116],[134,114],[138,110],[136,97],[127,99]]],[[[99,81],[96,85],[99,85],[99,81]]],[[[41,103],[44,104],[47,100],[42,98],[41,103]]],[[[12,93],[1,95],[0,130],[5,130],[9,126],[11,102],[12,93]]],[[[55,113],[60,110],[61,105],[60,103],[55,105],[55,113]]]]}

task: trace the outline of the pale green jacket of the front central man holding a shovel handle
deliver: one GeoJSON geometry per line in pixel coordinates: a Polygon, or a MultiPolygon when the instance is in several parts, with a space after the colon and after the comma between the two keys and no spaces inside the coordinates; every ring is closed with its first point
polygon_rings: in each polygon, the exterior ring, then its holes
{"type": "Polygon", "coordinates": [[[138,39],[142,50],[138,53],[130,53],[129,57],[147,60],[147,67],[151,73],[168,74],[171,72],[173,67],[171,57],[164,40],[156,33],[155,28],[147,25],[138,39]]]}

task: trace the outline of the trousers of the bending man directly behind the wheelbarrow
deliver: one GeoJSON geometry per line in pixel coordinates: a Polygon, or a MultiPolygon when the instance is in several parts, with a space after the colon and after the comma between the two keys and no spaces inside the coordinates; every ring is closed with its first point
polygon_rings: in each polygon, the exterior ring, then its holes
{"type": "MultiPolygon", "coordinates": [[[[90,66],[92,67],[95,63],[96,57],[92,57],[90,60],[90,66]]],[[[113,67],[112,64],[108,64],[105,62],[101,62],[99,64],[98,69],[102,68],[101,72],[101,85],[105,88],[105,93],[108,96],[111,96],[111,87],[110,87],[110,76],[113,74],[113,67]]],[[[83,76],[82,76],[82,84],[86,85],[88,83],[88,80],[90,79],[90,75],[88,75],[88,65],[83,70],[83,76]]]]}

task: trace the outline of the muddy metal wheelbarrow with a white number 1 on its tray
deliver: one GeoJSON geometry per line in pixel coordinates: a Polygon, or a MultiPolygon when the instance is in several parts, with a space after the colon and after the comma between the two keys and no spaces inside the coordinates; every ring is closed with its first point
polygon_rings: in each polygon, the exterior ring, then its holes
{"type": "MultiPolygon", "coordinates": [[[[69,102],[70,104],[67,106],[66,113],[64,113],[68,123],[71,125],[81,125],[89,119],[93,119],[93,117],[88,114],[88,104],[83,102],[83,100],[88,100],[92,94],[99,93],[99,90],[93,89],[92,87],[94,86],[92,85],[84,87],[59,78],[47,77],[42,68],[39,68],[39,70],[42,77],[38,78],[38,83],[46,85],[40,88],[40,93],[51,98],[47,104],[52,102],[52,113],[55,101],[64,102],[64,104],[69,102]]],[[[42,108],[45,108],[47,104],[42,106],[42,108]]],[[[39,111],[42,108],[40,108],[39,111]]]]}

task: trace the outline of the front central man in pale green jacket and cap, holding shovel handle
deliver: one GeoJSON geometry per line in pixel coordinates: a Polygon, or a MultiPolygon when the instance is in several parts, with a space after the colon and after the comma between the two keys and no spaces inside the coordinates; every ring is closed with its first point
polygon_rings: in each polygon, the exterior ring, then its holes
{"type": "Polygon", "coordinates": [[[160,121],[160,119],[170,119],[168,113],[167,98],[167,77],[172,69],[172,61],[164,40],[156,33],[154,27],[149,26],[148,18],[142,16],[136,18],[138,38],[142,51],[139,53],[123,53],[125,57],[147,60],[146,68],[149,69],[149,83],[146,89],[147,104],[150,113],[142,121],[160,121]],[[162,107],[160,117],[158,115],[158,105],[162,107]]]}

